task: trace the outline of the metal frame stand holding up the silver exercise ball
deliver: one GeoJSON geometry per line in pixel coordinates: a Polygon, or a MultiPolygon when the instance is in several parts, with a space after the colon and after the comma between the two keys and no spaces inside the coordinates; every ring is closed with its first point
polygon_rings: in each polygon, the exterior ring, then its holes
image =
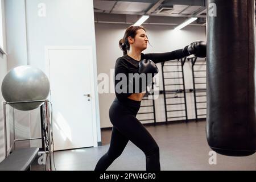
{"type": "Polygon", "coordinates": [[[42,148],[43,151],[41,151],[41,154],[49,154],[49,167],[50,170],[52,170],[51,165],[51,153],[52,150],[52,125],[51,125],[51,119],[50,119],[50,113],[49,113],[49,101],[48,100],[38,100],[38,101],[20,101],[20,102],[3,102],[3,125],[5,130],[5,157],[10,155],[10,152],[15,150],[15,143],[19,141],[25,141],[25,140],[42,140],[42,148]],[[15,138],[15,118],[14,118],[14,143],[11,144],[10,148],[7,147],[7,123],[6,123],[6,105],[9,104],[22,104],[22,103],[32,103],[32,102],[44,102],[43,105],[40,108],[41,111],[41,127],[42,127],[42,137],[40,138],[26,138],[26,139],[16,139],[15,138]]]}

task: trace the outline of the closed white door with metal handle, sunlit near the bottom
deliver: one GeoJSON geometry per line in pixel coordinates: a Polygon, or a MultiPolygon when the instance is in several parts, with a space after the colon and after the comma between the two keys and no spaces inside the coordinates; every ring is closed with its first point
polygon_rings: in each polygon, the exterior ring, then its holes
{"type": "Polygon", "coordinates": [[[48,49],[54,150],[93,146],[91,59],[91,49],[48,49]]]}

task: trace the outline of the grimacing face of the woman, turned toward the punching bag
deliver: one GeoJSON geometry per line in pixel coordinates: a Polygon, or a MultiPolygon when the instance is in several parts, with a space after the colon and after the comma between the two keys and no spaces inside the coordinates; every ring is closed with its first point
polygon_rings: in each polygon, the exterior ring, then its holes
{"type": "Polygon", "coordinates": [[[147,48],[147,34],[143,29],[139,29],[137,30],[137,34],[135,35],[134,39],[130,39],[131,42],[131,46],[133,46],[136,49],[139,49],[141,51],[143,51],[144,49],[147,48]]]}

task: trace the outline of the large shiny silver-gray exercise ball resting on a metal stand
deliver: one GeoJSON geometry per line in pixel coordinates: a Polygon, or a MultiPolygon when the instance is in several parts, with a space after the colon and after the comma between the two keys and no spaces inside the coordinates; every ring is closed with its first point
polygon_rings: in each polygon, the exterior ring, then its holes
{"type": "MultiPolygon", "coordinates": [[[[11,69],[3,78],[2,95],[6,102],[46,100],[49,95],[49,80],[38,68],[23,65],[11,69]]],[[[10,104],[18,110],[36,109],[43,102],[10,104]]]]}

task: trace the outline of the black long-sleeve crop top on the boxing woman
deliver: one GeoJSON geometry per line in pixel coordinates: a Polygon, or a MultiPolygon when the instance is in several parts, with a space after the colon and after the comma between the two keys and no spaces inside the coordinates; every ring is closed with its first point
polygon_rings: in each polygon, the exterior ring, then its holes
{"type": "MultiPolygon", "coordinates": [[[[164,52],[164,53],[147,53],[147,54],[141,53],[141,60],[150,59],[154,63],[161,63],[164,61],[176,60],[176,59],[189,56],[189,53],[183,50],[187,50],[187,49],[177,49],[176,51],[164,52]]],[[[131,58],[128,55],[119,57],[115,62],[115,74],[114,74],[115,96],[119,101],[125,101],[127,100],[127,97],[129,97],[132,93],[137,93],[137,92],[134,92],[134,90],[133,92],[129,91],[129,86],[131,86],[130,85],[131,80],[129,80],[129,73],[133,73],[133,74],[138,73],[138,67],[139,67],[139,61],[131,58]],[[125,82],[126,84],[120,84],[122,81],[122,78],[117,76],[119,73],[122,73],[121,75],[126,76],[127,78],[125,82]],[[120,89],[117,89],[120,87],[122,90],[126,90],[126,91],[120,93],[120,89]]],[[[140,89],[138,93],[141,93],[142,91],[143,90],[140,89]]]]}

